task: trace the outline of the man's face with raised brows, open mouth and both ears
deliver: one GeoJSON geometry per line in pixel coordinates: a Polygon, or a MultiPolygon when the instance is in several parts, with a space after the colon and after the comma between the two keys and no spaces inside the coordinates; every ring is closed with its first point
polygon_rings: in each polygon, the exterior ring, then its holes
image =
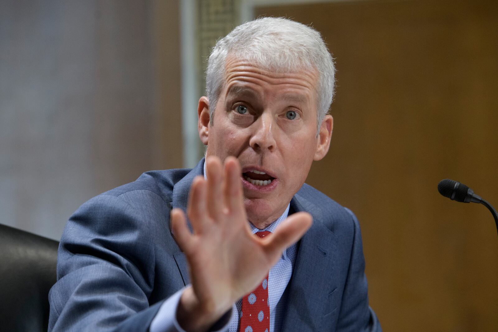
{"type": "Polygon", "coordinates": [[[199,134],[207,156],[238,158],[248,219],[264,228],[327,153],[332,117],[317,137],[316,71],[272,73],[229,57],[225,78],[213,124],[209,101],[199,101],[199,134]]]}

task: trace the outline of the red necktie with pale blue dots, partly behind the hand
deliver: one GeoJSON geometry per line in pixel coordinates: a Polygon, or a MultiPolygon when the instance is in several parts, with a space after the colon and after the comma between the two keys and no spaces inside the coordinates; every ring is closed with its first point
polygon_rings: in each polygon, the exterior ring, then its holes
{"type": "MultiPolygon", "coordinates": [[[[269,231],[257,232],[264,237],[269,231]]],[[[268,302],[268,274],[259,285],[242,298],[241,324],[239,332],[269,332],[270,307],[268,302]]]]}

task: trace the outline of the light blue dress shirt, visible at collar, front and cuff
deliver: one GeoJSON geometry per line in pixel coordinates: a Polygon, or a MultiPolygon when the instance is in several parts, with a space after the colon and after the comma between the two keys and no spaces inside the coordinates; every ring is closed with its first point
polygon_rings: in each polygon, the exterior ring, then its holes
{"type": "MultiPolygon", "coordinates": [[[[206,163],[204,163],[204,179],[206,177],[206,163]]],[[[268,227],[264,229],[257,229],[252,223],[249,223],[252,233],[257,231],[267,230],[273,232],[276,227],[284,221],[289,214],[290,204],[287,205],[285,212],[275,221],[273,221],[268,227]]],[[[289,283],[290,277],[292,275],[292,266],[294,264],[296,256],[296,244],[294,243],[286,250],[282,252],[280,259],[273,265],[268,274],[268,299],[270,307],[270,331],[274,331],[275,317],[280,317],[282,313],[277,312],[276,305],[282,294],[289,283]]],[[[178,308],[178,303],[180,297],[185,288],[182,288],[174,295],[170,296],[161,305],[161,308],[157,312],[157,315],[152,320],[150,324],[150,332],[185,332],[178,322],[176,321],[176,310],[178,308]]],[[[217,331],[228,331],[228,332],[238,332],[239,328],[239,317],[242,310],[242,300],[237,301],[237,303],[232,307],[232,313],[230,320],[227,324],[217,331]]]]}

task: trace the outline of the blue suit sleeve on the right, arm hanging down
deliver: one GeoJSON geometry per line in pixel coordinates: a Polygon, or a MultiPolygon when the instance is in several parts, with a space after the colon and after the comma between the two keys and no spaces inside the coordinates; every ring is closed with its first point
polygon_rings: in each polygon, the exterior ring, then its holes
{"type": "Polygon", "coordinates": [[[354,235],[337,332],[381,332],[380,323],[369,307],[360,223],[351,210],[346,210],[353,219],[354,235]]]}

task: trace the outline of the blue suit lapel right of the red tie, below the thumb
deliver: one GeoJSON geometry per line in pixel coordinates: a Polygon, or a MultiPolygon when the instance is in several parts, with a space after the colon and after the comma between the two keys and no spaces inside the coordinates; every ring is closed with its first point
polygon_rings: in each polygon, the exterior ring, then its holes
{"type": "Polygon", "coordinates": [[[313,224],[298,243],[292,277],[277,305],[280,308],[276,311],[282,313],[282,317],[275,331],[321,331],[323,315],[335,309],[327,308],[329,295],[336,287],[333,280],[337,261],[335,234],[323,224],[320,208],[302,196],[294,196],[291,209],[309,212],[313,224]]]}

